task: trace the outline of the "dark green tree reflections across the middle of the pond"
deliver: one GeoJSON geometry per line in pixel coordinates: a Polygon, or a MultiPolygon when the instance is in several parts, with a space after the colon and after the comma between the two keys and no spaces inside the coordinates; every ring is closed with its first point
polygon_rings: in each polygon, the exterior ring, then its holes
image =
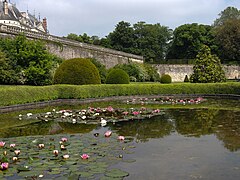
{"type": "MultiPolygon", "coordinates": [[[[7,119],[7,121],[9,121],[7,119]]],[[[13,120],[12,120],[13,121],[13,120]]],[[[16,119],[15,119],[16,121],[16,119]]],[[[4,124],[4,121],[1,121],[4,124]]],[[[20,121],[24,124],[23,121],[20,121]]],[[[26,122],[25,122],[26,123],[26,122]]],[[[48,135],[60,133],[89,133],[99,129],[95,124],[61,122],[32,122],[28,125],[1,128],[0,137],[48,135]]],[[[240,111],[212,109],[169,109],[160,116],[146,120],[130,120],[108,124],[120,135],[131,136],[140,142],[163,138],[177,133],[186,137],[216,135],[230,151],[240,149],[240,111]]]]}

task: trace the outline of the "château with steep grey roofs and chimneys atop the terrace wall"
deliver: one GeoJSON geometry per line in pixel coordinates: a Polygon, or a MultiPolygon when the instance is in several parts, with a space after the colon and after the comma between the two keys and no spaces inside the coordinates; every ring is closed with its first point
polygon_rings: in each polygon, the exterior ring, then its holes
{"type": "Polygon", "coordinates": [[[42,21],[28,12],[20,12],[15,4],[0,0],[0,24],[39,33],[48,33],[47,19],[42,21]]]}

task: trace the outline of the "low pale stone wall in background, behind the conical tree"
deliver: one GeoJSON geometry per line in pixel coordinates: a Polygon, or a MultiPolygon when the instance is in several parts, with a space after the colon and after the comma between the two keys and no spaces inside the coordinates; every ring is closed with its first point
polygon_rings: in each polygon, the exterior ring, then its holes
{"type": "MultiPolygon", "coordinates": [[[[160,75],[169,74],[173,82],[183,82],[186,75],[193,73],[193,65],[155,65],[160,75]]],[[[227,79],[240,78],[240,66],[224,66],[227,79]]]]}

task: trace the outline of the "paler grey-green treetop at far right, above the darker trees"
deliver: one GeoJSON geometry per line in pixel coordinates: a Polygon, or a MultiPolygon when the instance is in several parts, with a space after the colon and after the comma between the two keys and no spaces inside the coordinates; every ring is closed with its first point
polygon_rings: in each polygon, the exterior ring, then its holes
{"type": "Polygon", "coordinates": [[[214,26],[221,26],[225,21],[230,19],[240,19],[240,10],[235,7],[227,7],[220,14],[219,18],[214,21],[214,26]]]}

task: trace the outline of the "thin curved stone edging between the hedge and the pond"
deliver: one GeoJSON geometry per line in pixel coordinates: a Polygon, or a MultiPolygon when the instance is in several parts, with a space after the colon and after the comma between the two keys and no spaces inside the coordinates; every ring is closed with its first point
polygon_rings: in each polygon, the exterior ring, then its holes
{"type": "Polygon", "coordinates": [[[26,104],[17,104],[10,106],[1,106],[0,114],[8,113],[20,110],[29,110],[43,108],[47,106],[59,106],[59,105],[77,105],[92,102],[107,102],[116,100],[125,100],[133,98],[157,98],[157,97],[179,97],[179,98],[195,98],[195,97],[205,97],[205,98],[222,98],[222,99],[238,99],[240,100],[240,95],[235,94],[159,94],[159,95],[136,95],[136,96],[112,96],[104,98],[88,98],[88,99],[57,99],[43,102],[34,102],[26,104]]]}

